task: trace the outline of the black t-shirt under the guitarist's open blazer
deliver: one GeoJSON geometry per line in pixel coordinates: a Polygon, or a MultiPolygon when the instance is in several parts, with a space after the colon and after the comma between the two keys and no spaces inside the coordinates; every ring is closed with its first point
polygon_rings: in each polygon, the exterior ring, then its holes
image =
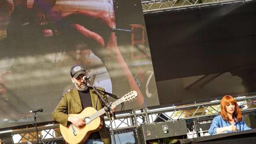
{"type": "MultiPolygon", "coordinates": [[[[93,106],[89,88],[86,91],[78,90],[78,93],[79,93],[79,96],[80,96],[80,99],[81,99],[83,109],[87,108],[88,106],[90,106],[90,107],[93,106]]],[[[88,138],[90,138],[90,139],[100,138],[99,132],[96,131],[96,132],[91,133],[88,138]]]]}

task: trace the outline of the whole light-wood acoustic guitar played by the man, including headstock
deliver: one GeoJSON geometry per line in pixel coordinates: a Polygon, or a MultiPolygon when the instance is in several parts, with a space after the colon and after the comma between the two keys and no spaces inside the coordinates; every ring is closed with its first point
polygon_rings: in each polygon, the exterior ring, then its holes
{"type": "MultiPolygon", "coordinates": [[[[132,99],[135,99],[137,95],[138,93],[136,91],[131,91],[122,98],[113,102],[112,105],[117,106],[122,102],[131,101],[132,99]]],[[[92,132],[99,131],[101,129],[103,121],[100,116],[104,113],[106,113],[105,108],[97,111],[92,107],[87,107],[79,114],[69,114],[70,116],[83,119],[86,125],[83,127],[76,127],[71,124],[65,127],[60,124],[60,131],[64,140],[70,144],[84,143],[92,132]]]]}

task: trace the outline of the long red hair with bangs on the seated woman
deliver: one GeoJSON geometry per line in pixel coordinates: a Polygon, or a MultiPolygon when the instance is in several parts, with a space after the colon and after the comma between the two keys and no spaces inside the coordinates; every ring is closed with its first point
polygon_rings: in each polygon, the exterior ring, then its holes
{"type": "Polygon", "coordinates": [[[241,109],[238,108],[238,104],[237,101],[230,95],[225,95],[222,99],[221,99],[221,117],[226,120],[229,121],[229,117],[227,115],[227,109],[226,109],[226,105],[229,104],[234,104],[235,108],[234,108],[234,112],[232,115],[232,118],[236,118],[237,121],[241,121],[242,120],[242,113],[241,113],[241,109]]]}

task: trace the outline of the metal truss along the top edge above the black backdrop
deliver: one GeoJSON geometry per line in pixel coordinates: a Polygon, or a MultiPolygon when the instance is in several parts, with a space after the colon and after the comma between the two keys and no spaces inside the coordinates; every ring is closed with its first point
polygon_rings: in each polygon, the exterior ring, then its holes
{"type": "Polygon", "coordinates": [[[254,0],[141,0],[141,4],[143,13],[147,14],[249,1],[254,0]]]}

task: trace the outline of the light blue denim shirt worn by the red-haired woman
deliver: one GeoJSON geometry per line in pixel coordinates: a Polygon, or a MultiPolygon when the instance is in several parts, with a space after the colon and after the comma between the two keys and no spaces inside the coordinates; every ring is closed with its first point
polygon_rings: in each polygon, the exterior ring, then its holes
{"type": "MultiPolygon", "coordinates": [[[[212,134],[216,134],[216,129],[218,127],[227,127],[227,126],[230,126],[231,124],[225,120],[223,120],[223,118],[221,117],[221,115],[218,115],[216,116],[213,120],[212,120],[212,123],[211,123],[211,127],[210,129],[208,130],[208,132],[210,133],[210,135],[212,134]]],[[[243,122],[242,120],[240,122],[236,122],[234,124],[234,126],[237,127],[237,131],[243,131],[243,130],[249,130],[251,129],[250,127],[248,127],[246,125],[245,122],[243,122]]],[[[232,131],[226,131],[226,132],[232,132],[232,131]]]]}

